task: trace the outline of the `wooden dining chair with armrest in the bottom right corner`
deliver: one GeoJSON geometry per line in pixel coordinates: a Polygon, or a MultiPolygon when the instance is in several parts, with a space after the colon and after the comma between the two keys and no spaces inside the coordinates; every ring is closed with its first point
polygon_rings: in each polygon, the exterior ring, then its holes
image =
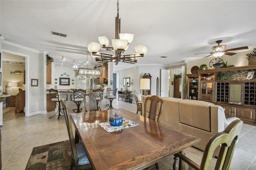
{"type": "MultiPolygon", "coordinates": [[[[215,164],[215,170],[228,170],[230,168],[230,163],[232,160],[232,156],[234,154],[234,149],[236,143],[238,141],[238,135],[242,129],[243,121],[234,120],[230,123],[223,132],[218,132],[206,144],[204,154],[202,156],[200,166],[192,161],[190,158],[186,157],[184,153],[179,152],[174,154],[174,170],[178,170],[178,158],[180,160],[184,160],[188,165],[192,166],[192,168],[196,170],[208,170],[210,169],[210,164],[212,160],[212,156],[214,154],[214,150],[220,146],[220,153],[218,154],[218,158],[215,164]]],[[[180,164],[181,166],[181,164],[180,164]]],[[[184,166],[184,164],[183,164],[184,166]]]]}

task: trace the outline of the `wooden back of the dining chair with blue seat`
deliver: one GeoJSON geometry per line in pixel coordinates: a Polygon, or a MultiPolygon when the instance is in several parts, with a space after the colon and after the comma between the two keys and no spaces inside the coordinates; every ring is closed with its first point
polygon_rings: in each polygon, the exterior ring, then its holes
{"type": "Polygon", "coordinates": [[[73,157],[71,159],[71,161],[72,161],[73,165],[76,165],[78,163],[78,156],[77,156],[77,152],[76,152],[75,138],[74,138],[74,134],[73,134],[73,130],[72,130],[72,122],[70,120],[70,114],[68,112],[68,107],[67,107],[66,103],[64,103],[64,101],[62,99],[60,99],[60,101],[63,106],[63,112],[64,112],[64,116],[65,116],[65,120],[66,120],[66,125],[68,128],[68,136],[69,136],[69,140],[70,140],[72,157],[73,157]]]}

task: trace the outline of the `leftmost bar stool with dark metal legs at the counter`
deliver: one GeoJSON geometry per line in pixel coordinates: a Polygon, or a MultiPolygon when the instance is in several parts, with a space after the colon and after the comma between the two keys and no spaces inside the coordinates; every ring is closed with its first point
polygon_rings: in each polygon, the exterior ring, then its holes
{"type": "Polygon", "coordinates": [[[60,100],[62,99],[64,101],[67,101],[68,95],[67,94],[60,95],[60,93],[58,93],[58,90],[56,90],[56,89],[50,89],[49,94],[50,94],[51,101],[55,102],[58,105],[58,111],[54,115],[50,116],[49,119],[56,117],[56,116],[58,116],[58,119],[59,119],[60,116],[64,116],[64,115],[60,115],[60,113],[61,113],[61,101],[60,100]],[[57,113],[59,113],[59,114],[56,115],[57,113]]]}

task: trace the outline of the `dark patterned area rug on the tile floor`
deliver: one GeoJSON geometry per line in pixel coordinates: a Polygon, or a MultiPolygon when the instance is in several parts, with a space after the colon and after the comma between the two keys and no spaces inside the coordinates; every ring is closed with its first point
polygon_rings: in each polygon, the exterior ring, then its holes
{"type": "Polygon", "coordinates": [[[69,140],[35,147],[26,170],[69,170],[70,154],[69,140]]]}

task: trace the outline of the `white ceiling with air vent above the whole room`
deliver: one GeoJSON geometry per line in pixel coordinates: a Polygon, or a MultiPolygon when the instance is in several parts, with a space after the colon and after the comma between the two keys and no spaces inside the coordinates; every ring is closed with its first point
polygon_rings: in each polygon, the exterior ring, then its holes
{"type": "MultiPolygon", "coordinates": [[[[226,49],[256,47],[255,0],[120,0],[119,7],[121,33],[134,34],[125,54],[135,53],[136,45],[148,47],[137,64],[200,59],[208,54],[194,53],[212,52],[216,40],[223,40],[226,49]]],[[[47,51],[56,65],[64,56],[64,66],[71,67],[74,59],[86,61],[87,45],[98,42],[98,36],[114,39],[116,8],[116,0],[1,0],[0,32],[8,42],[47,51]]],[[[88,68],[99,65],[90,54],[88,60],[88,68]]],[[[131,66],[120,62],[114,70],[131,66]]]]}

